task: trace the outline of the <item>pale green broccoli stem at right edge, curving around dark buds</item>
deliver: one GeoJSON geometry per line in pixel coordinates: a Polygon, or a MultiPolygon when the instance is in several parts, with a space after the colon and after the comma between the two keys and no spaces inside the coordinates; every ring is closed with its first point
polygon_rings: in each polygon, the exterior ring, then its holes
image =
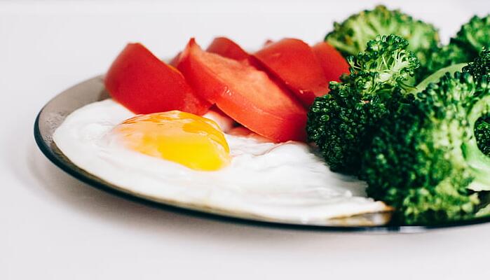
{"type": "Polygon", "coordinates": [[[475,180],[468,188],[470,190],[490,190],[490,157],[485,155],[478,147],[475,137],[475,123],[477,120],[490,114],[490,95],[486,95],[476,102],[470,111],[468,121],[470,122],[473,137],[468,143],[463,144],[464,157],[475,174],[475,180]]]}

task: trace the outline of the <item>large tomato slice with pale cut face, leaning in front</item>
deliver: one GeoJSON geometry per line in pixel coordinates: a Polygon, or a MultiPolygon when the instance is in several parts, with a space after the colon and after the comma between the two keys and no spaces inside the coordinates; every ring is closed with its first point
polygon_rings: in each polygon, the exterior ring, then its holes
{"type": "Polygon", "coordinates": [[[278,142],[306,139],[306,110],[255,66],[205,52],[192,38],[177,68],[197,94],[253,132],[278,142]]]}

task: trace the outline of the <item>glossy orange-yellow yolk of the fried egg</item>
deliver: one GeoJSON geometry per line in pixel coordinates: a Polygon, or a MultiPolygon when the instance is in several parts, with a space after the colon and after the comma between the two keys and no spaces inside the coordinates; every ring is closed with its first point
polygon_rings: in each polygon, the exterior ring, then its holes
{"type": "Polygon", "coordinates": [[[229,164],[230,149],[212,120],[168,111],[139,115],[114,127],[126,148],[171,160],[196,170],[218,170],[229,164]]]}

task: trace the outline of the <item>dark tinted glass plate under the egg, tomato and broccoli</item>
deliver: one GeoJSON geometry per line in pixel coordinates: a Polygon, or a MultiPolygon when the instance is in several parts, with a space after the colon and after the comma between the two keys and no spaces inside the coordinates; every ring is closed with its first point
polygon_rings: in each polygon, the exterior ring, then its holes
{"type": "Polygon", "coordinates": [[[448,228],[460,225],[472,225],[486,223],[490,217],[475,218],[465,221],[451,223],[440,223],[434,225],[401,225],[390,222],[390,213],[364,214],[346,218],[336,218],[325,220],[322,223],[304,224],[276,221],[271,218],[254,216],[247,213],[224,211],[212,209],[195,204],[186,204],[173,200],[165,200],[158,197],[149,197],[141,193],[132,193],[130,190],[111,185],[106,181],[93,176],[83,169],[76,167],[66,158],[53,142],[53,132],[61,125],[64,118],[69,113],[79,109],[86,104],[97,102],[109,98],[104,89],[102,76],[90,78],[88,80],[65,90],[50,100],[39,112],[34,123],[34,138],[36,144],[46,158],[53,162],[57,167],[64,170],[76,179],[88,183],[100,190],[104,190],[113,195],[118,195],[128,200],[147,204],[151,207],[159,207],[167,211],[177,211],[182,214],[200,216],[203,218],[218,219],[233,223],[247,223],[275,228],[292,228],[301,230],[327,230],[327,231],[369,231],[369,232],[421,232],[434,228],[448,228]]]}

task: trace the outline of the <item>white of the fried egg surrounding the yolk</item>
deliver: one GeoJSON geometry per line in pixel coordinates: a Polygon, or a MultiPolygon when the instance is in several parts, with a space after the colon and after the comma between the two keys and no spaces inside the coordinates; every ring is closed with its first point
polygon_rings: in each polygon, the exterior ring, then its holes
{"type": "MultiPolygon", "coordinates": [[[[88,104],[64,120],[53,140],[74,165],[159,202],[292,223],[388,210],[383,202],[365,197],[364,182],[330,172],[306,144],[225,134],[231,164],[200,172],[121,146],[110,131],[132,116],[112,99],[88,104]]],[[[216,115],[207,117],[229,130],[230,124],[216,115]]]]}

